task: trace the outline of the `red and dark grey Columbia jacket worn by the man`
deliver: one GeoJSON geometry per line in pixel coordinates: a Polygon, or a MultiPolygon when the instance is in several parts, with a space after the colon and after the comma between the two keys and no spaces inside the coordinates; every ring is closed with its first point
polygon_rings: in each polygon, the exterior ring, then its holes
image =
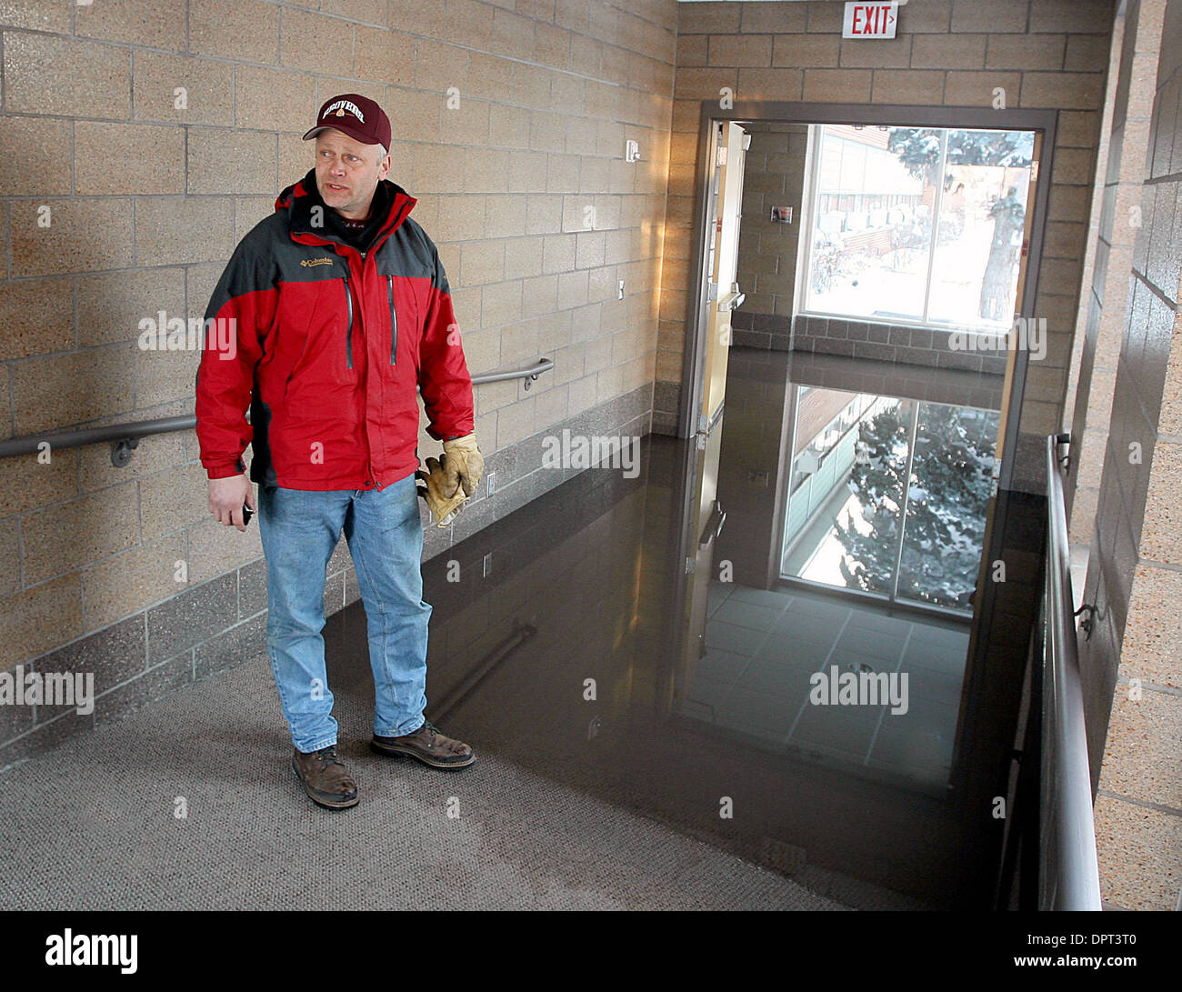
{"type": "Polygon", "coordinates": [[[206,311],[196,375],[210,479],[243,472],[252,445],[251,479],[262,485],[385,488],[418,467],[416,389],[431,437],[473,433],[447,274],[408,216],[415,197],[382,182],[390,209],[364,254],[325,222],[314,169],[234,249],[206,311]]]}

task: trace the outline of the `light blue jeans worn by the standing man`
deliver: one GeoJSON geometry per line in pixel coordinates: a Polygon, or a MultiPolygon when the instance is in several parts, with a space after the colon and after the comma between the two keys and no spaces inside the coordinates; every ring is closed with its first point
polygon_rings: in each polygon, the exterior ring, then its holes
{"type": "Polygon", "coordinates": [[[305,753],[337,743],[320,631],[325,575],[342,529],[365,605],[374,733],[414,733],[427,706],[431,608],[423,602],[423,523],[414,474],[382,491],[260,487],[267,653],[292,744],[305,753]]]}

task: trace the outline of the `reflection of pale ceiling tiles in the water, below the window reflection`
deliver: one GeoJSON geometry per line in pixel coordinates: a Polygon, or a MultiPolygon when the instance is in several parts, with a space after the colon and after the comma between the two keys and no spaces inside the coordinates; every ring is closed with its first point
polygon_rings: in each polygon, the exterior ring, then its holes
{"type": "Polygon", "coordinates": [[[687,715],[798,760],[947,790],[966,629],[799,590],[715,583],[712,599],[687,715]],[[834,668],[851,688],[855,676],[873,685],[878,702],[832,699],[834,668]],[[821,689],[826,705],[811,702],[821,689]]]}

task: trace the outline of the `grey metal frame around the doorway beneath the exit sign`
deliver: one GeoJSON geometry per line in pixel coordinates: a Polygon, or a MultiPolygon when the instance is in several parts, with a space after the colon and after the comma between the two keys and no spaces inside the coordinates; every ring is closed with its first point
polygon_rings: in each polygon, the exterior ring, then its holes
{"type": "MultiPolygon", "coordinates": [[[[714,194],[714,123],[720,121],[777,121],[787,124],[894,124],[921,128],[988,128],[993,130],[1041,131],[1043,157],[1034,184],[1034,209],[1030,227],[1030,247],[1026,254],[1025,277],[1018,287],[1021,305],[1019,317],[1033,317],[1038,274],[1043,260],[1043,239],[1047,223],[1051,197],[1051,175],[1054,158],[1054,137],[1059,124],[1058,110],[1018,108],[994,110],[991,106],[916,106],[909,104],[807,103],[797,101],[735,101],[723,110],[716,99],[703,99],[699,112],[697,166],[694,169],[694,246],[690,284],[686,305],[686,350],[682,356],[682,389],[677,401],[677,436],[691,437],[697,433],[696,411],[702,402],[706,365],[706,226],[714,194]],[[693,329],[693,332],[690,332],[693,329]]],[[[1005,432],[999,442],[1002,448],[1001,474],[998,486],[1011,487],[1014,455],[1018,448],[1018,424],[1025,393],[1030,352],[1009,352],[1006,364],[1007,391],[1001,397],[1005,432]]]]}

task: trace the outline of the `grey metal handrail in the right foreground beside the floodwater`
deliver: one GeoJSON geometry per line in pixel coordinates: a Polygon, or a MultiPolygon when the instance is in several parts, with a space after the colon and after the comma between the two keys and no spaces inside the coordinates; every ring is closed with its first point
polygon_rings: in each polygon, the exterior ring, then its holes
{"type": "Polygon", "coordinates": [[[1046,442],[1047,540],[1043,634],[1043,767],[1039,802],[1039,909],[1102,909],[1092,779],[1079,681],[1067,512],[1058,448],[1046,442]]]}

